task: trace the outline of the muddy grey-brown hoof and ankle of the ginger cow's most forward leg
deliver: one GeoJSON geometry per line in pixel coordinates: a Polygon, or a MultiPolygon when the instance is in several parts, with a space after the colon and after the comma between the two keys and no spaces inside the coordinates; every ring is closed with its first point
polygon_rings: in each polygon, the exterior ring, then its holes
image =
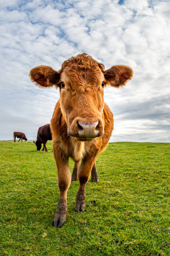
{"type": "Polygon", "coordinates": [[[61,228],[67,217],[67,202],[65,200],[59,200],[57,204],[57,210],[54,216],[54,226],[61,228]]]}

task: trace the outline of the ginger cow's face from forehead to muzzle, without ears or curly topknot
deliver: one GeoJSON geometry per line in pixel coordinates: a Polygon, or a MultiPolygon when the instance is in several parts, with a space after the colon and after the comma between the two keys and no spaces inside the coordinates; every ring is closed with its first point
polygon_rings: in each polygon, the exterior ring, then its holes
{"type": "Polygon", "coordinates": [[[67,123],[67,133],[79,141],[91,141],[104,134],[105,77],[99,66],[80,69],[66,67],[60,77],[60,106],[67,123]]]}

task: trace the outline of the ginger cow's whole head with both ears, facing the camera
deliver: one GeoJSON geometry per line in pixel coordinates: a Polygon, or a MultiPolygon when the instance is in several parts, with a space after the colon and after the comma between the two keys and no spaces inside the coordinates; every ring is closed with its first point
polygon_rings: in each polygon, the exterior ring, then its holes
{"type": "Polygon", "coordinates": [[[60,88],[60,108],[67,123],[67,133],[79,141],[91,141],[104,134],[104,87],[122,87],[133,76],[130,67],[104,65],[87,54],[63,62],[59,71],[39,66],[31,69],[30,78],[40,87],[60,88]]]}

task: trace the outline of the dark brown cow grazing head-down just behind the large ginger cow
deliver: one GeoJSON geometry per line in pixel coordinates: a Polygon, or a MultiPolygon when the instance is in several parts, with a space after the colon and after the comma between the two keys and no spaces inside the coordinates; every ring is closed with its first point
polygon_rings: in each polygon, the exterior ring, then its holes
{"type": "Polygon", "coordinates": [[[37,150],[41,149],[41,144],[43,143],[42,151],[44,151],[44,148],[45,148],[45,151],[47,151],[46,144],[48,140],[50,141],[52,140],[49,123],[38,128],[37,141],[33,141],[33,142],[37,146],[37,150]]]}

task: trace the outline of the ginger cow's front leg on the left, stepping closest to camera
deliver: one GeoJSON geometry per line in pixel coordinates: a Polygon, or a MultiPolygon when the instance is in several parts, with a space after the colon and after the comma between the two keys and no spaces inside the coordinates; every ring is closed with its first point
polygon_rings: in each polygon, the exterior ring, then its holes
{"type": "Polygon", "coordinates": [[[67,190],[70,187],[71,174],[68,160],[65,160],[55,147],[53,151],[57,165],[58,187],[60,190],[60,197],[54,216],[54,226],[61,228],[67,217],[67,190]]]}

